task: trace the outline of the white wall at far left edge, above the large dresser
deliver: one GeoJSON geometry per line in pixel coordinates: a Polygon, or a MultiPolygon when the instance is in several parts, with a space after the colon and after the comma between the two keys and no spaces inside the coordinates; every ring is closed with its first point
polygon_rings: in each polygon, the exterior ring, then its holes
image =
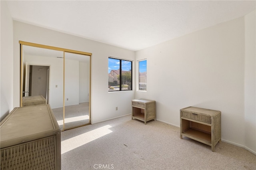
{"type": "MultiPolygon", "coordinates": [[[[13,22],[6,2],[1,8],[0,52],[0,120],[13,109],[13,22]]],[[[19,79],[18,79],[19,80],[19,79]]]]}

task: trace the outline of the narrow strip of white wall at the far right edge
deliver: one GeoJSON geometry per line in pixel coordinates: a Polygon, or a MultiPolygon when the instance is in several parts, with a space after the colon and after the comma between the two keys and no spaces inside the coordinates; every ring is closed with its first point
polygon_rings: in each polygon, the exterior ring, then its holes
{"type": "Polygon", "coordinates": [[[256,26],[255,10],[245,16],[244,109],[245,146],[256,152],[256,26]]]}

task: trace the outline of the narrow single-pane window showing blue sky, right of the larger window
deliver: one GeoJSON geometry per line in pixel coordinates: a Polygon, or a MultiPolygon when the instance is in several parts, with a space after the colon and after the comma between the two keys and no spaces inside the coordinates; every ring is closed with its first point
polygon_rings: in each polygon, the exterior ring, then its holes
{"type": "Polygon", "coordinates": [[[147,90],[147,60],[139,61],[139,90],[147,90]]]}

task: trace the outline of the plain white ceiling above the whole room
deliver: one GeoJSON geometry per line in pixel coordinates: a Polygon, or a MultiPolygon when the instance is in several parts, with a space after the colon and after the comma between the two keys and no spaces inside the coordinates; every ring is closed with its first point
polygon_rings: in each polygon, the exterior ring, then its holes
{"type": "Polygon", "coordinates": [[[256,1],[6,1],[14,20],[137,51],[244,16],[256,1]]]}

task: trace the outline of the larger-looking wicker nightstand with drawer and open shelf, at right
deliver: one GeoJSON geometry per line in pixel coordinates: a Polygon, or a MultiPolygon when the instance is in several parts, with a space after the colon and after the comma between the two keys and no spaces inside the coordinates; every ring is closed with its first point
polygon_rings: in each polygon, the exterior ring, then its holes
{"type": "Polygon", "coordinates": [[[180,138],[182,135],[212,146],[221,141],[221,112],[199,107],[180,109],[180,138]]]}

